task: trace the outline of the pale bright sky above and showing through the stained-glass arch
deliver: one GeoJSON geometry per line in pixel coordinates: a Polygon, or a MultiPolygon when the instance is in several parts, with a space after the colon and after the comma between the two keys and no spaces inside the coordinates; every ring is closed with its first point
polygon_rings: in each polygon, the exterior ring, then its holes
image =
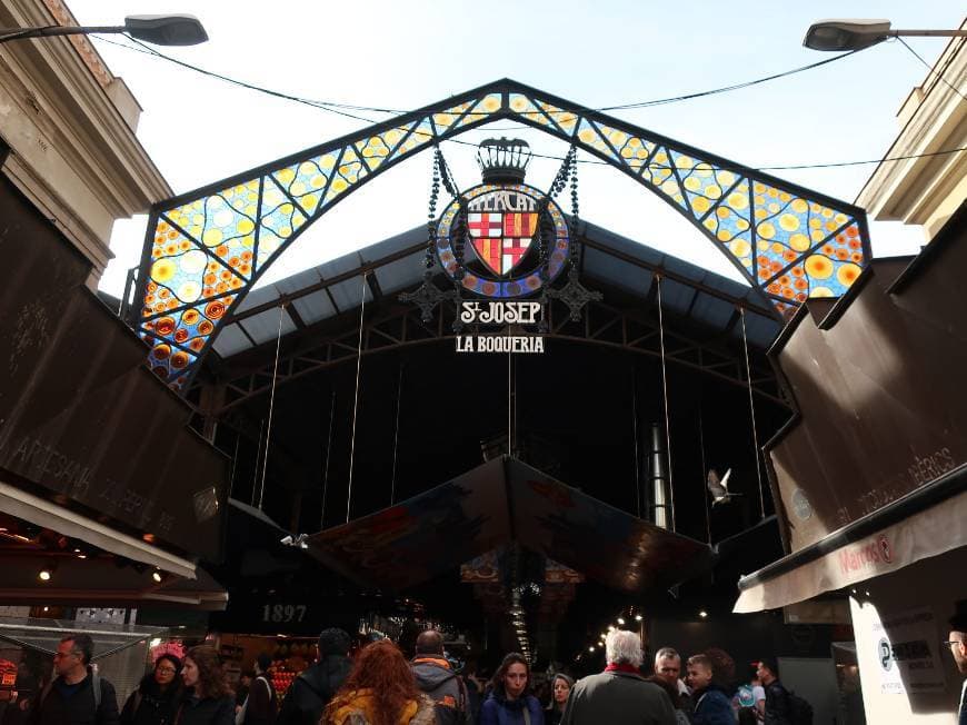
{"type": "MultiPolygon", "coordinates": [[[[895,28],[956,28],[963,19],[957,4],[69,1],[81,24],[114,24],[136,13],[193,12],[210,41],[162,49],[166,53],[295,96],[399,110],[504,77],[591,108],[679,96],[821,60],[825,54],[801,47],[806,28],[818,19],[880,17],[895,28]]],[[[930,63],[946,43],[908,42],[930,63]]],[[[94,44],[144,109],[138,136],[176,193],[367,126],[102,40],[94,44]]],[[[899,130],[896,112],[926,73],[906,48],[889,42],[750,89],[614,115],[755,168],[879,159],[899,130]]],[[[373,111],[359,115],[373,121],[388,118],[373,111]]],[[[494,127],[499,130],[485,128],[463,138],[477,142],[495,133],[516,136],[539,153],[567,151],[540,132],[506,121],[494,127]]],[[[479,182],[472,148],[447,143],[443,151],[461,187],[479,182]]],[[[536,159],[528,181],[546,188],[557,166],[536,159]]],[[[873,169],[772,173],[851,202],[873,169]]],[[[427,153],[381,175],[306,231],[260,284],[422,224],[429,180],[427,153]]],[[[584,218],[737,278],[735,268],[682,217],[617,170],[582,166],[580,189],[584,218]]],[[[119,295],[126,270],[137,265],[146,224],[146,217],[117,222],[111,244],[117,257],[101,281],[107,291],[119,295]]],[[[897,222],[874,224],[871,235],[878,256],[914,251],[923,242],[919,228],[897,222]]]]}

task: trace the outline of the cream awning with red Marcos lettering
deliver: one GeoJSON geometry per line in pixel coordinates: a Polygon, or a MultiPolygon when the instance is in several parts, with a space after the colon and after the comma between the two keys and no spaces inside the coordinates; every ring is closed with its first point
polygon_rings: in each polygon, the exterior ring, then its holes
{"type": "Polygon", "coordinates": [[[967,464],[739,579],[737,613],[776,609],[967,546],[967,464]]]}

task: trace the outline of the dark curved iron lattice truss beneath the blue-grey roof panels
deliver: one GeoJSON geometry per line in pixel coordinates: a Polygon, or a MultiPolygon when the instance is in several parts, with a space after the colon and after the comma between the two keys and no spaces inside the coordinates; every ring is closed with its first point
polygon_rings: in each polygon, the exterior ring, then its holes
{"type": "MultiPolygon", "coordinates": [[[[379,311],[363,325],[363,357],[419,345],[455,344],[452,324],[456,308],[452,305],[437,307],[432,319],[425,322],[416,307],[386,298],[381,302],[379,311]]],[[[670,330],[666,326],[667,361],[745,388],[747,381],[741,354],[730,350],[725,344],[734,325],[735,321],[717,339],[706,340],[670,330]]],[[[293,332],[287,340],[279,357],[276,389],[319,370],[357,359],[358,327],[351,325],[345,331],[327,335],[318,330],[322,326],[331,329],[332,319],[293,332]],[[317,330],[313,331],[313,328],[317,330]]],[[[469,332],[472,329],[467,328],[462,334],[469,332]]],[[[619,309],[592,301],[585,308],[584,318],[574,321],[564,302],[552,301],[548,305],[548,331],[545,335],[547,340],[598,345],[658,358],[661,355],[658,335],[657,319],[639,310],[619,309]]],[[[263,361],[259,364],[240,368],[233,367],[229,360],[217,371],[216,385],[223,389],[225,398],[221,408],[212,411],[212,415],[220,417],[247,400],[268,394],[275,370],[271,356],[275,347],[269,347],[272,349],[266,347],[265,355],[260,356],[263,361]]],[[[789,407],[789,401],[782,397],[782,390],[765,357],[751,359],[751,371],[754,393],[789,407]]]]}

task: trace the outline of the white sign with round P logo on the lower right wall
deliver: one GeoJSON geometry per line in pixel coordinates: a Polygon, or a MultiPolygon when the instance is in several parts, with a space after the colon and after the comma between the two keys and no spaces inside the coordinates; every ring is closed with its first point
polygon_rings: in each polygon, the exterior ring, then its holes
{"type": "Polygon", "coordinates": [[[938,693],[947,689],[939,652],[939,630],[930,607],[880,616],[871,643],[885,695],[938,693]]]}

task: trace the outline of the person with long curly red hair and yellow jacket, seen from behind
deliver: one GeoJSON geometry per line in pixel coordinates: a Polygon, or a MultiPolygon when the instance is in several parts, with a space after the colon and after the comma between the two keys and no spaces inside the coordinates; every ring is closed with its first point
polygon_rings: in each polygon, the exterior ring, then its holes
{"type": "Polygon", "coordinates": [[[323,725],[431,725],[433,701],[417,688],[410,664],[389,639],[367,645],[322,713],[323,725]]]}

